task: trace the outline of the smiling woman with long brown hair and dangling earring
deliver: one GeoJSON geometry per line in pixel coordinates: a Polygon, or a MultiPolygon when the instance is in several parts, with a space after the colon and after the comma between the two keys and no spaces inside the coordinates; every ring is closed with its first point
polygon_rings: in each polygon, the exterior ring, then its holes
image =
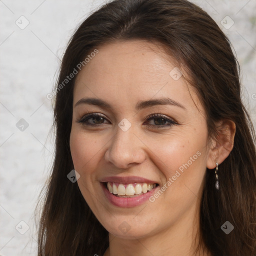
{"type": "Polygon", "coordinates": [[[256,255],[238,63],[186,0],[114,0],[62,59],[38,255],[256,255]]]}

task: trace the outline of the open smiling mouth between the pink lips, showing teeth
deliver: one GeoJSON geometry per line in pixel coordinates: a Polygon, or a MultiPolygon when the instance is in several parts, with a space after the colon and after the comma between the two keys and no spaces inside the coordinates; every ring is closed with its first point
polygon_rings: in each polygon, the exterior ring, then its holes
{"type": "Polygon", "coordinates": [[[129,183],[104,182],[107,190],[117,197],[135,197],[145,194],[158,186],[157,183],[129,183]]]}

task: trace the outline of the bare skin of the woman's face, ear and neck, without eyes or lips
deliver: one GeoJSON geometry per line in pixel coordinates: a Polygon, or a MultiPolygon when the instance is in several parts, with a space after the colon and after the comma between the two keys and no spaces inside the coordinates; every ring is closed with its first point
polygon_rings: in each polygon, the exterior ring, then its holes
{"type": "MultiPolygon", "coordinates": [[[[221,164],[228,156],[235,125],[220,121],[216,124],[217,140],[207,140],[204,110],[192,87],[187,88],[185,73],[174,80],[169,75],[174,61],[155,44],[134,40],[106,44],[98,50],[75,81],[70,150],[74,168],[80,174],[79,189],[109,232],[109,248],[104,256],[120,252],[124,256],[193,255],[206,167],[213,169],[216,160],[221,164]],[[112,108],[75,106],[83,97],[103,99],[112,108]],[[185,109],[175,105],[135,109],[140,100],[161,97],[169,97],[185,109]],[[98,125],[95,127],[77,122],[91,112],[101,113],[105,119],[94,120],[98,125]],[[154,113],[178,124],[157,129],[157,125],[164,126],[168,121],[147,121],[146,117],[154,113]],[[131,124],[126,131],[118,127],[123,118],[131,124]],[[200,156],[154,202],[117,207],[108,202],[100,186],[102,177],[135,175],[157,181],[160,189],[198,151],[200,156]],[[119,229],[123,221],[130,227],[125,233],[119,229]]],[[[88,121],[93,123],[92,118],[88,121]]]]}

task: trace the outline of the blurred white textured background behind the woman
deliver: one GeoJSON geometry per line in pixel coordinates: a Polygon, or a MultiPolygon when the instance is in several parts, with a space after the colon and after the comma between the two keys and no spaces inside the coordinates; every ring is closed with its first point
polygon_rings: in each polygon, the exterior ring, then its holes
{"type": "MultiPolygon", "coordinates": [[[[0,0],[0,255],[36,255],[34,208],[54,153],[46,94],[72,32],[103,2],[0,0]]],[[[231,40],[255,125],[256,0],[192,2],[231,40]]]]}

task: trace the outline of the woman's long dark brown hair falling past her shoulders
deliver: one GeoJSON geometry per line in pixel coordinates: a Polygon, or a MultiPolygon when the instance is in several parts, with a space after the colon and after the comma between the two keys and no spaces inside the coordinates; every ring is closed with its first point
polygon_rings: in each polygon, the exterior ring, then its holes
{"type": "Polygon", "coordinates": [[[74,168],[69,135],[75,77],[59,84],[95,48],[134,39],[159,43],[167,56],[187,69],[206,112],[209,137],[217,134],[216,121],[235,123],[233,149],[218,169],[219,190],[214,172],[206,169],[197,249],[205,244],[214,256],[255,256],[256,140],[241,101],[239,65],[214,20],[187,0],[114,0],[91,13],[72,35],[56,83],[55,158],[41,198],[38,255],[103,255],[108,247],[107,230],[88,207],[77,182],[67,178],[74,168]],[[225,221],[234,226],[229,234],[220,228],[225,221]]]}

